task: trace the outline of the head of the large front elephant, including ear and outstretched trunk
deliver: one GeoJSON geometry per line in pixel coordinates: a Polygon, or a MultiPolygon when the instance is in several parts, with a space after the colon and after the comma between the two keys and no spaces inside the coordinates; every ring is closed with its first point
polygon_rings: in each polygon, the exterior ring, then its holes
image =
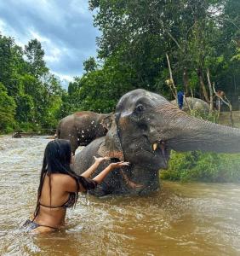
{"type": "Polygon", "coordinates": [[[194,118],[163,96],[138,89],[117,103],[98,153],[138,166],[130,177],[142,183],[140,173],[168,168],[171,149],[239,153],[240,130],[194,118]]]}

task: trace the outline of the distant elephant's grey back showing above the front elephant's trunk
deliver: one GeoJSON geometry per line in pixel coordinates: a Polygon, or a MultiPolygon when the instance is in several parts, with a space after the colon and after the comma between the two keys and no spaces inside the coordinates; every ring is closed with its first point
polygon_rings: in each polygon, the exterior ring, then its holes
{"type": "MultiPolygon", "coordinates": [[[[171,101],[171,103],[177,106],[177,102],[175,100],[171,101]]],[[[209,103],[204,102],[201,99],[194,98],[194,97],[185,97],[182,110],[189,111],[190,109],[188,105],[192,110],[197,110],[197,112],[199,113],[204,113],[204,114],[209,113],[209,109],[210,109],[209,103]]]]}

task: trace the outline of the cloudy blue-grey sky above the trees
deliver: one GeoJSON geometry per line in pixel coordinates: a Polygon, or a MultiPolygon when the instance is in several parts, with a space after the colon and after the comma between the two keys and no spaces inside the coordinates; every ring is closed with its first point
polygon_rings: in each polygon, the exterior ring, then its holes
{"type": "Polygon", "coordinates": [[[0,32],[20,46],[37,38],[51,72],[67,80],[83,73],[100,35],[88,0],[0,0],[0,32]]]}

